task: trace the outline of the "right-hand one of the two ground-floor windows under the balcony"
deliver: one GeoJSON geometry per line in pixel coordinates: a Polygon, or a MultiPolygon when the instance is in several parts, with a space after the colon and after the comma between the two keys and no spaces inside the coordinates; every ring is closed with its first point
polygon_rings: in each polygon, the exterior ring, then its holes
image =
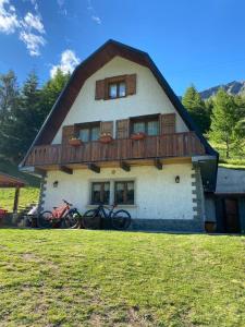
{"type": "Polygon", "coordinates": [[[115,182],[114,202],[117,204],[134,204],[134,182],[115,182]]]}

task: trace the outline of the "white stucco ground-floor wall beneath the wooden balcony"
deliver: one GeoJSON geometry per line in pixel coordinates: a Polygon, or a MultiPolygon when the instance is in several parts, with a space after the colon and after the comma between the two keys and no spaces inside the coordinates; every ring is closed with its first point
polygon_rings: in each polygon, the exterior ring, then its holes
{"type": "MultiPolygon", "coordinates": [[[[146,219],[193,219],[192,165],[166,165],[162,170],[154,166],[132,167],[130,172],[120,168],[105,168],[99,174],[87,169],[74,170],[73,174],[50,171],[47,175],[45,209],[62,203],[73,203],[81,213],[89,208],[90,183],[93,181],[135,181],[135,205],[124,206],[132,218],[146,219]],[[180,175],[180,183],[175,177],[180,175]],[[58,187],[53,182],[58,181],[58,187]]],[[[113,192],[111,192],[111,195],[113,192]]],[[[113,203],[113,196],[111,196],[113,203]]]]}

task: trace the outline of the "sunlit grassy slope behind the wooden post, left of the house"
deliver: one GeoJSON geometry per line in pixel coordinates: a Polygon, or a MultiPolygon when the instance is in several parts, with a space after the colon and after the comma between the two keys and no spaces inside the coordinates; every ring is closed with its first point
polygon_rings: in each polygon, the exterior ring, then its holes
{"type": "MultiPolygon", "coordinates": [[[[23,187],[20,191],[20,208],[26,205],[38,202],[39,189],[38,187],[23,187]]],[[[0,208],[9,211],[13,210],[14,189],[0,189],[0,208]]]]}

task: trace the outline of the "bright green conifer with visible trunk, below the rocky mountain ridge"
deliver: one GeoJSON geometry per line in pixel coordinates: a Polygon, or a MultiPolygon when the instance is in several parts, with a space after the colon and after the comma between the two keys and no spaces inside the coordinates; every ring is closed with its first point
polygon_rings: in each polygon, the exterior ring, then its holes
{"type": "Polygon", "coordinates": [[[235,141],[235,125],[237,112],[234,97],[228,95],[220,88],[215,98],[215,106],[211,116],[210,137],[215,142],[225,144],[226,158],[230,158],[230,147],[235,141]]]}

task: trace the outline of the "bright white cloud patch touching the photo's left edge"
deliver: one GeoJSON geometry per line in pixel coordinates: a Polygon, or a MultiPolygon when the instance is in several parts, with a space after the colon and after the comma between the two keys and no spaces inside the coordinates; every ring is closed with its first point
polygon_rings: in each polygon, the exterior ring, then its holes
{"type": "Polygon", "coordinates": [[[0,0],[0,32],[12,34],[20,26],[14,5],[9,0],[0,0]]]}

